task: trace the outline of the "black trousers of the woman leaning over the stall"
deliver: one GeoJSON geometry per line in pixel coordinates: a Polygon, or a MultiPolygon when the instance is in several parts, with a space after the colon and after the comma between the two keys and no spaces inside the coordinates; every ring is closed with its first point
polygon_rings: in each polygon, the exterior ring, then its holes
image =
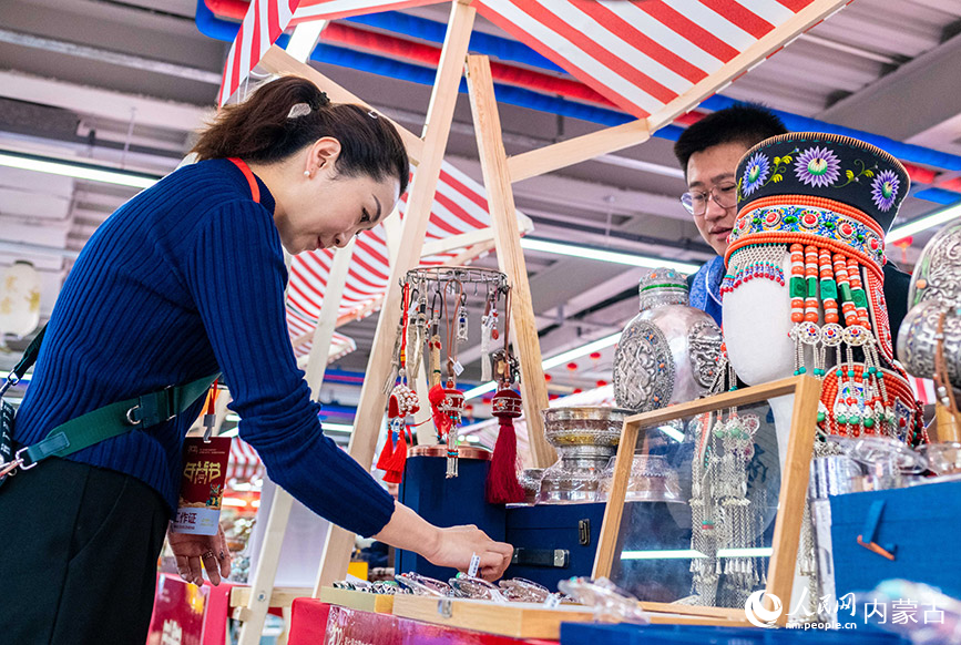
{"type": "Polygon", "coordinates": [[[0,642],[143,645],[170,519],[145,483],[48,459],[0,487],[0,642]]]}

